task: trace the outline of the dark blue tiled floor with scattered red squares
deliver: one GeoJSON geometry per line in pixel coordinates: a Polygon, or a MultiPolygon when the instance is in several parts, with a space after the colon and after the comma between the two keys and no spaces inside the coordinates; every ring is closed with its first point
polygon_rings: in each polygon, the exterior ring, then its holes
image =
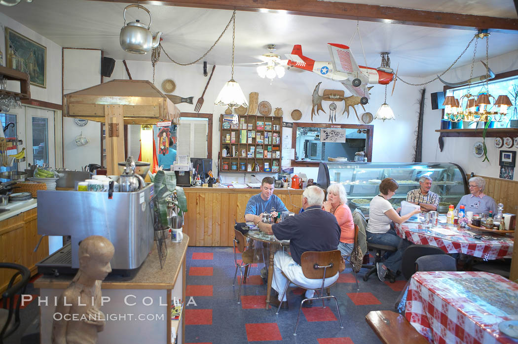
{"type": "MultiPolygon", "coordinates": [[[[371,310],[391,309],[404,280],[396,283],[380,282],[372,275],[362,280],[365,269],[358,274],[359,291],[350,268],[340,274],[331,293],[338,298],[343,328],[333,301],[326,301],[326,308],[315,302],[312,308],[303,308],[297,328],[301,289],[289,289],[290,308],[279,315],[266,310],[266,286],[260,275],[262,264],[252,268],[250,279],[242,286],[241,303],[237,303],[239,286],[232,286],[235,264],[232,248],[189,247],[187,253],[186,300],[192,301],[185,308],[186,343],[378,343],[378,337],[365,322],[371,310]]],[[[239,271],[238,271],[239,278],[239,271]]]]}

